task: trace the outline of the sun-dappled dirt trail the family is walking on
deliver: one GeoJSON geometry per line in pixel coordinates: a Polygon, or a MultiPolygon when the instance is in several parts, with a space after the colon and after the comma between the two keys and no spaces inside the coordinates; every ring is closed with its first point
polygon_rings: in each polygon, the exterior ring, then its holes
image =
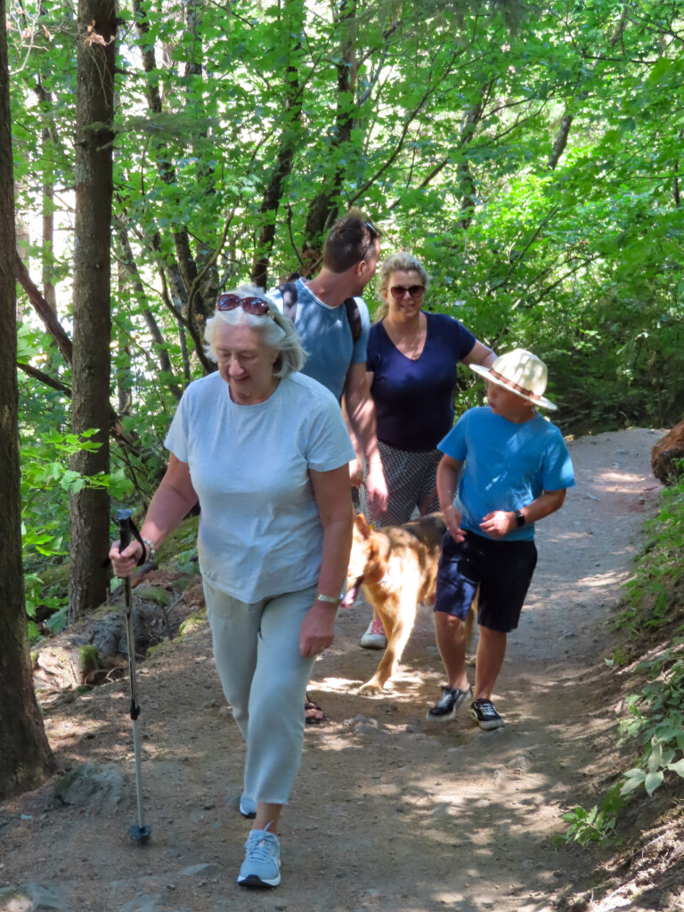
{"type": "MultiPolygon", "coordinates": [[[[609,647],[610,606],[656,500],[656,440],[658,432],[624,430],[570,444],[577,487],[540,523],[533,588],[494,695],[503,730],[483,733],[465,714],[437,730],[424,721],[443,683],[428,611],[389,692],[358,697],[378,654],[358,648],[368,607],[342,613],[314,671],[327,721],[306,731],[283,816],[283,884],[244,891],[235,886],[244,747],[202,627],[140,673],[150,844],[126,836],[132,790],[111,814],[57,807],[52,785],[0,805],[0,912],[553,908],[590,874],[591,855],[555,854],[553,836],[586,793],[614,724],[592,668],[609,647]],[[3,899],[3,887],[33,901],[12,906],[21,900],[3,899]]],[[[46,707],[62,766],[115,764],[132,783],[127,695],[119,681],[46,707]]]]}

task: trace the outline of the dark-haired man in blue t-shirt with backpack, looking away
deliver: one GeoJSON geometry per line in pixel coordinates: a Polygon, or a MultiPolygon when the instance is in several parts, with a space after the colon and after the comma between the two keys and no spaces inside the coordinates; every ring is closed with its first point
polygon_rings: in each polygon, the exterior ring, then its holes
{"type": "MultiPolygon", "coordinates": [[[[373,514],[386,509],[388,492],[378,451],[375,406],[366,378],[370,320],[360,295],[375,275],[379,257],[378,230],[361,212],[350,210],[330,230],[323,248],[323,266],[316,278],[295,282],[295,326],[308,356],[303,373],[322,383],[344,404],[352,435],[368,462],[366,489],[373,514]],[[358,334],[352,331],[344,306],[352,297],[361,324],[358,334]]],[[[278,289],[269,296],[284,310],[278,289]]],[[[363,473],[357,462],[351,464],[351,473],[352,484],[358,487],[363,473]]]]}

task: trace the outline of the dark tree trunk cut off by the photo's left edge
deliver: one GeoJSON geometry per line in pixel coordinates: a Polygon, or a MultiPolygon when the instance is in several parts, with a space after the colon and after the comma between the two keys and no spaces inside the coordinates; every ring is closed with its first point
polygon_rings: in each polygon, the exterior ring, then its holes
{"type": "Polygon", "coordinates": [[[0,801],[36,788],[55,758],[36,703],[26,634],[16,383],[16,233],[5,0],[0,0],[0,801]]]}

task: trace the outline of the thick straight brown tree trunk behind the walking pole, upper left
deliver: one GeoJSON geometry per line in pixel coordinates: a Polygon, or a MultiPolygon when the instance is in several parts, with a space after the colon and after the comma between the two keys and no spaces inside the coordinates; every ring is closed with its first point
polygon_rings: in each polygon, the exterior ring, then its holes
{"type": "MultiPolygon", "coordinates": [[[[98,430],[96,452],[79,452],[72,468],[109,472],[109,233],[112,198],[115,0],[78,4],[74,361],[72,429],[98,430]]],[[[70,501],[69,617],[107,596],[109,494],[83,488],[70,501]]]]}

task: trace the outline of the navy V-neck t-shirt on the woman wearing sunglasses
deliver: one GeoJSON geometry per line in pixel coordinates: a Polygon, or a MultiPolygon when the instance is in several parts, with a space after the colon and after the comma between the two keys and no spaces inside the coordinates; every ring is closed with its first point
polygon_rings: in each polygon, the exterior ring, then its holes
{"type": "Polygon", "coordinates": [[[472,352],[472,333],[446,314],[429,314],[425,347],[412,361],[382,323],[370,327],[366,367],[378,420],[378,440],[397,450],[434,450],[453,424],[458,362],[472,352]]]}

